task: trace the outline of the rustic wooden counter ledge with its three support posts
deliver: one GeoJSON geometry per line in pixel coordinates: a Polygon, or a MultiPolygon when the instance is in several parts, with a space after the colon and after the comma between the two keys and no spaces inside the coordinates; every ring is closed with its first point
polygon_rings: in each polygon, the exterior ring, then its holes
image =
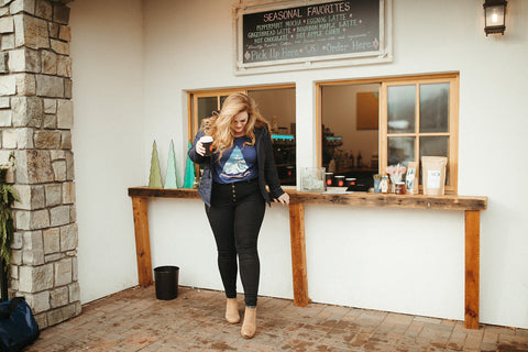
{"type": "MultiPolygon", "coordinates": [[[[394,207],[409,209],[458,210],[465,212],[465,327],[479,329],[479,277],[481,210],[487,207],[487,197],[392,195],[373,193],[322,194],[285,189],[290,195],[289,228],[294,304],[305,307],[310,302],[306,270],[305,205],[343,205],[354,207],[394,207]]],[[[138,273],[141,286],[153,284],[151,244],[148,234],[147,198],[199,198],[195,189],[161,189],[131,187],[134,212],[138,273]]]]}

